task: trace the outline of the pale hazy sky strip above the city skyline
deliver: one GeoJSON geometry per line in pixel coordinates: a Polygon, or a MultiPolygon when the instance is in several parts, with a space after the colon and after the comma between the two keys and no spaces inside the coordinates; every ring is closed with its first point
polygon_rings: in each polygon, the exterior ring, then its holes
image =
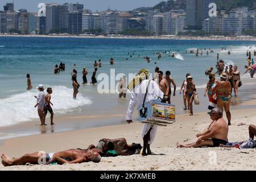
{"type": "MultiPolygon", "coordinates": [[[[43,3],[81,3],[84,4],[84,9],[92,11],[102,11],[108,9],[112,10],[133,10],[137,7],[154,6],[162,0],[14,0],[14,10],[27,9],[29,12],[37,12],[38,4],[43,3]]],[[[13,0],[0,0],[0,10],[3,10],[3,5],[13,0]]]]}

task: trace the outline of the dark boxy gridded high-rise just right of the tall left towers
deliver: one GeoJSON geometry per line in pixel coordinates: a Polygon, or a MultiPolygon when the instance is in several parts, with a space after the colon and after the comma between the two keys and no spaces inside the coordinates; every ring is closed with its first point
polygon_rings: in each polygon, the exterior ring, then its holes
{"type": "Polygon", "coordinates": [[[81,34],[82,32],[82,11],[68,12],[68,33],[81,34]]]}

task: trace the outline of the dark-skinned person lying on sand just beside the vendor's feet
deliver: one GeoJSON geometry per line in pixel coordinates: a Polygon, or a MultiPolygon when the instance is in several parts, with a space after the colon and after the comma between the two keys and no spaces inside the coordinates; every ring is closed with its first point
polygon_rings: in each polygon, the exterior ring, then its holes
{"type": "MultiPolygon", "coordinates": [[[[108,156],[106,155],[106,152],[109,150],[114,150],[117,152],[117,155],[133,155],[139,154],[142,146],[139,143],[127,144],[125,138],[104,138],[98,142],[95,148],[95,151],[97,151],[101,156],[108,156]]],[[[92,148],[92,150],[94,150],[94,148],[92,148]]]]}

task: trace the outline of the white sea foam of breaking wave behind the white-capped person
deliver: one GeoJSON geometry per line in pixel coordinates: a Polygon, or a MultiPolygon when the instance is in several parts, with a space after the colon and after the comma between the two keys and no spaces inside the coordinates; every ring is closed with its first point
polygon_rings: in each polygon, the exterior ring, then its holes
{"type": "MultiPolygon", "coordinates": [[[[78,94],[77,99],[74,100],[71,88],[52,86],[52,90],[52,109],[56,114],[65,114],[74,111],[77,107],[92,104],[89,98],[81,94],[78,94]]],[[[46,93],[46,90],[44,92],[46,93]]],[[[34,96],[38,96],[36,89],[0,100],[0,127],[39,118],[37,109],[34,107],[36,104],[34,96]]]]}

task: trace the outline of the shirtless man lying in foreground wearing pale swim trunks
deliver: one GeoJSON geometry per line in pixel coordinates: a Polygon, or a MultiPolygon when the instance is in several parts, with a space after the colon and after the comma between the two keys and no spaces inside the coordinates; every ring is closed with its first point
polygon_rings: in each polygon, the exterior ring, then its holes
{"type": "MultiPolygon", "coordinates": [[[[90,147],[90,146],[89,146],[90,147]]],[[[26,163],[31,164],[51,164],[53,162],[59,164],[76,164],[84,162],[94,162],[99,163],[101,161],[101,156],[97,151],[81,149],[69,149],[56,153],[43,153],[43,152],[34,152],[32,154],[25,154],[20,158],[9,158],[9,156],[2,154],[2,164],[3,166],[19,166],[26,165],[26,163]]]]}

